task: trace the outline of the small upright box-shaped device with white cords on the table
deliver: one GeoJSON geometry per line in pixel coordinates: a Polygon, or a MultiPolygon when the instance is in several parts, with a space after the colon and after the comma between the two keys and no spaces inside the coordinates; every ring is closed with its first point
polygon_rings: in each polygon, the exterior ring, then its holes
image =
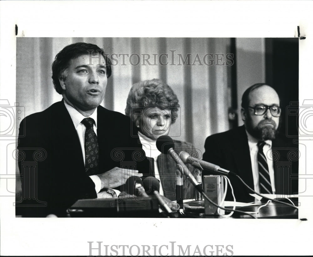
{"type": "MultiPolygon", "coordinates": [[[[203,191],[213,202],[217,205],[224,207],[224,204],[221,205],[224,194],[224,184],[223,177],[219,175],[207,175],[203,176],[203,191]]],[[[204,213],[206,215],[219,215],[218,207],[210,203],[206,198],[204,199],[204,213]]],[[[220,214],[224,214],[224,210],[220,210],[220,214]]]]}

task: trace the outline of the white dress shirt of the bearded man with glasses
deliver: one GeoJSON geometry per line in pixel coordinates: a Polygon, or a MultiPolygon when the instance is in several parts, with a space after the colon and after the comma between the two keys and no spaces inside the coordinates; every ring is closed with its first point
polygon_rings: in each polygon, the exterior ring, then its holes
{"type": "MultiPolygon", "coordinates": [[[[254,191],[260,192],[259,188],[259,166],[258,166],[258,139],[251,136],[246,130],[248,136],[248,144],[250,149],[250,158],[252,165],[252,175],[253,175],[253,184],[254,191]]],[[[273,194],[275,194],[275,177],[274,177],[274,164],[273,160],[270,158],[272,153],[272,140],[265,140],[265,145],[263,147],[263,153],[267,160],[267,165],[269,166],[269,178],[271,180],[271,186],[273,194]]]]}

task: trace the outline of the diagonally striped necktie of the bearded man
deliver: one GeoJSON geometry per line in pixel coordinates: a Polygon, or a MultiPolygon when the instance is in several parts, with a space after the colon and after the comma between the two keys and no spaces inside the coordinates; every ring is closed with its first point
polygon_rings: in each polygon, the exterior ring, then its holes
{"type": "Polygon", "coordinates": [[[259,167],[259,185],[261,194],[272,194],[271,180],[269,178],[269,166],[263,153],[264,141],[258,142],[258,167],[259,167]]]}

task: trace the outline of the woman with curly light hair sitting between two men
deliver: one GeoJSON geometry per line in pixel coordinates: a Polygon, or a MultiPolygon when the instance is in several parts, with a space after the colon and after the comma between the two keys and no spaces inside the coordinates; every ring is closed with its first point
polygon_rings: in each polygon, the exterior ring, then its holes
{"type": "MultiPolygon", "coordinates": [[[[178,99],[172,88],[159,79],[140,81],[131,87],[127,97],[125,114],[138,128],[141,141],[151,169],[148,176],[155,176],[160,181],[160,194],[170,200],[176,198],[177,164],[168,155],[156,148],[156,140],[167,135],[178,115],[178,99]]],[[[175,149],[192,151],[192,144],[175,140],[175,149]]],[[[149,171],[147,171],[149,172],[149,171]]],[[[194,198],[194,189],[188,178],[183,177],[184,199],[194,198]]]]}

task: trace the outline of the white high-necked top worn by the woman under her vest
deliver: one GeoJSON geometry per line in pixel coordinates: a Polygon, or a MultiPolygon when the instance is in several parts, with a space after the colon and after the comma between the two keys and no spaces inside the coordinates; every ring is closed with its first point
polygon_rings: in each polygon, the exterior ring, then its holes
{"type": "Polygon", "coordinates": [[[142,144],[142,149],[145,151],[146,156],[150,157],[154,160],[154,175],[156,179],[160,181],[160,195],[164,195],[163,188],[162,188],[162,183],[161,183],[161,178],[160,178],[160,173],[159,169],[157,167],[157,157],[161,155],[161,152],[157,149],[156,147],[156,140],[150,139],[146,137],[144,134],[140,133],[138,131],[138,136],[140,139],[140,142],[142,144]]]}

